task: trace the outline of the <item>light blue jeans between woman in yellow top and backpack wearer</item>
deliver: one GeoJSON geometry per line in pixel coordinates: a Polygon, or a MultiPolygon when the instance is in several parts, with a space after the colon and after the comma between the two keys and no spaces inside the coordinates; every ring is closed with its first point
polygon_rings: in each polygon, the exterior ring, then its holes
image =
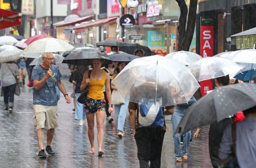
{"type": "Polygon", "coordinates": [[[125,104],[114,105],[115,107],[115,121],[116,121],[116,132],[124,132],[126,111],[129,105],[129,101],[125,101],[125,104]]]}

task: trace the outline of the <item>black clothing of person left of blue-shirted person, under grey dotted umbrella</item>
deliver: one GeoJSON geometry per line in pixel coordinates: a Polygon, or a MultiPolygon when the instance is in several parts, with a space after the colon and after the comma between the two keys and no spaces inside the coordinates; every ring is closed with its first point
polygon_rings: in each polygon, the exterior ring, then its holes
{"type": "Polygon", "coordinates": [[[221,165],[221,159],[219,158],[219,148],[221,144],[221,139],[225,128],[233,123],[232,118],[225,118],[219,123],[214,123],[210,125],[209,130],[209,153],[211,158],[212,166],[217,168],[221,165]]]}

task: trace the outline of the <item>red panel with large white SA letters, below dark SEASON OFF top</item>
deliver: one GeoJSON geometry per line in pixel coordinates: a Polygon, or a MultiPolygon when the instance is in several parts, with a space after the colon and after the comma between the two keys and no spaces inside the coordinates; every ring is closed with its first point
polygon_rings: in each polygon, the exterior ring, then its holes
{"type": "Polygon", "coordinates": [[[213,26],[201,26],[200,55],[205,58],[213,56],[213,26]]]}

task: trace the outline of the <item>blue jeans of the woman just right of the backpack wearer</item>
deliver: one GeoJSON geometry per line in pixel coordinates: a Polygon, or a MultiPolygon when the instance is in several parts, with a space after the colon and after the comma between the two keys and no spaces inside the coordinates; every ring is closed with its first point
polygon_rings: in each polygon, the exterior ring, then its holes
{"type": "MultiPolygon", "coordinates": [[[[179,107],[179,106],[174,107],[174,113],[171,118],[172,130],[173,130],[172,135],[173,135],[173,139],[174,139],[174,152],[175,152],[174,157],[175,158],[181,158],[181,134],[175,134],[175,131],[176,131],[178,125],[180,124],[181,119],[188,108],[189,107],[179,107]]],[[[187,155],[187,148],[189,146],[190,137],[191,137],[191,131],[188,131],[183,135],[183,147],[182,147],[183,155],[187,155]]]]}

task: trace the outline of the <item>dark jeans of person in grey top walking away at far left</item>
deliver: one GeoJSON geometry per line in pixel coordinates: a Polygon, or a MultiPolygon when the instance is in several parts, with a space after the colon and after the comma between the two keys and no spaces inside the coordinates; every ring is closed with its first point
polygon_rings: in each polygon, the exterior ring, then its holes
{"type": "Polygon", "coordinates": [[[13,107],[16,83],[14,83],[13,85],[2,87],[2,88],[3,88],[4,107],[9,107],[9,106],[13,107]]]}

